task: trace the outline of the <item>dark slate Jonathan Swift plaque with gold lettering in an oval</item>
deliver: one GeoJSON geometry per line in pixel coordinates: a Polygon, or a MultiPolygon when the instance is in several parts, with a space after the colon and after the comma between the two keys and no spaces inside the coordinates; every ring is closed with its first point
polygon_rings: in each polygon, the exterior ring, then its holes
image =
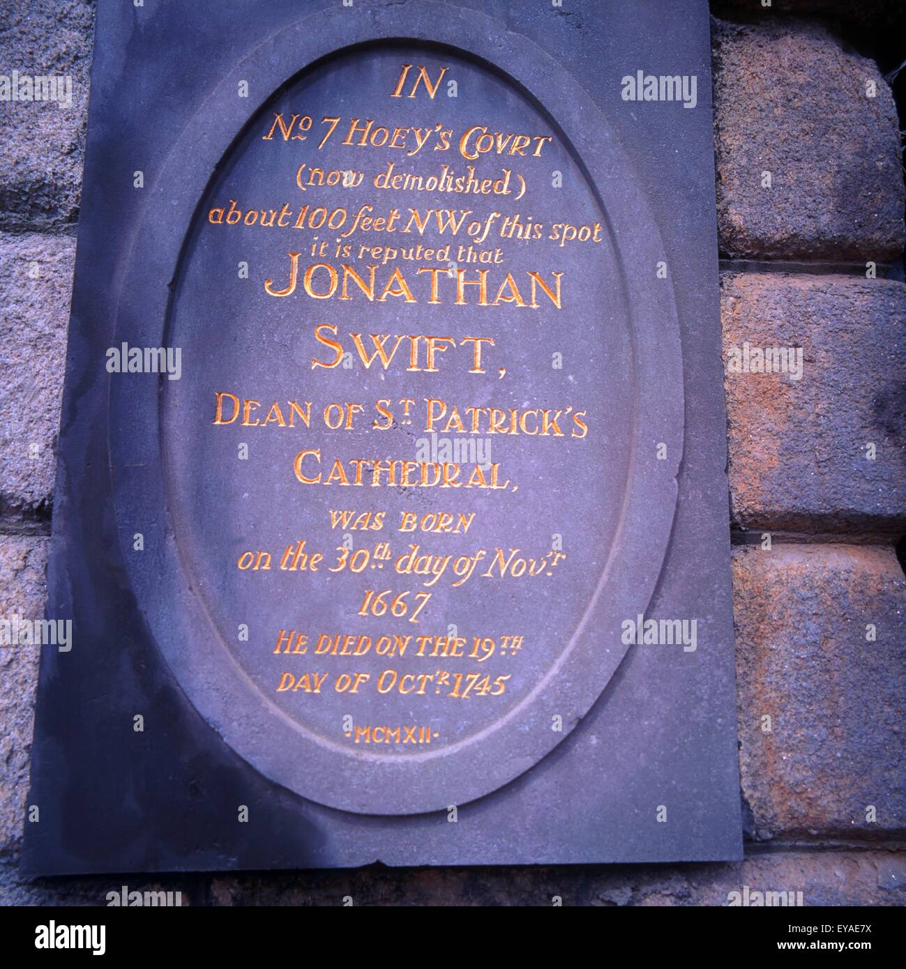
{"type": "Polygon", "coordinates": [[[738,857],[708,58],[101,0],[30,872],[738,857]]]}

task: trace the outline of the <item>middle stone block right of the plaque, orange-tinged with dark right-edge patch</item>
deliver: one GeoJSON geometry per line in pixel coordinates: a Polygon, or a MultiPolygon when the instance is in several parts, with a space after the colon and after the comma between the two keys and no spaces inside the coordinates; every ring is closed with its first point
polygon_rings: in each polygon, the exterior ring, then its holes
{"type": "Polygon", "coordinates": [[[721,298],[725,363],[746,342],[751,350],[802,348],[798,380],[726,372],[734,524],[901,535],[906,286],[834,275],[725,274],[721,298]]]}

